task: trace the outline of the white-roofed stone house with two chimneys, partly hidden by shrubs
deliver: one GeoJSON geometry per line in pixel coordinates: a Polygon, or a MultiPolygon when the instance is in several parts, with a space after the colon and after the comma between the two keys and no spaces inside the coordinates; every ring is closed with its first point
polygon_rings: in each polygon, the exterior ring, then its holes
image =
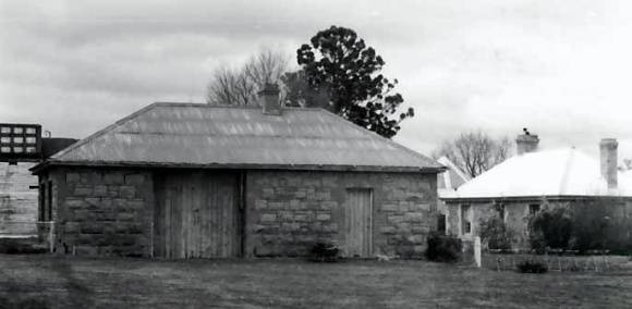
{"type": "Polygon", "coordinates": [[[608,217],[612,242],[630,243],[632,177],[617,169],[616,139],[599,144],[600,162],[574,148],[538,151],[537,135],[516,138],[516,156],[465,183],[447,205],[447,233],[472,239],[481,221],[497,215],[515,248],[528,247],[528,221],[543,208],[570,207],[608,217]]]}

